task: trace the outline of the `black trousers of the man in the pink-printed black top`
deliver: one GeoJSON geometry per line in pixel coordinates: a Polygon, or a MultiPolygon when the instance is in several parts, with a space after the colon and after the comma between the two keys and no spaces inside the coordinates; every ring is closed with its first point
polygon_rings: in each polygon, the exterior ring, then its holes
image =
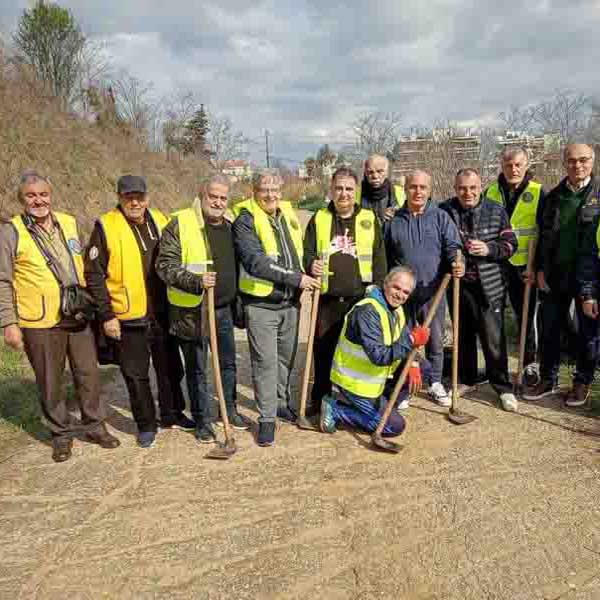
{"type": "Polygon", "coordinates": [[[315,380],[312,387],[310,407],[307,414],[319,411],[321,399],[331,394],[331,365],[338,339],[344,326],[344,317],[360,300],[356,298],[340,298],[336,296],[321,296],[319,313],[315,329],[313,347],[313,365],[315,380]]]}

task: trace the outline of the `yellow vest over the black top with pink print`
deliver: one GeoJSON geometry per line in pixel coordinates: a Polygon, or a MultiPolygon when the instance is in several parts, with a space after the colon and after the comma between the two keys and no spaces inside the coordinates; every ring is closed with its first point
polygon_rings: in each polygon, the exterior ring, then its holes
{"type": "MultiPolygon", "coordinates": [[[[329,289],[329,259],[331,257],[331,228],[333,213],[328,208],[321,208],[315,216],[317,238],[317,256],[322,259],[323,276],[321,277],[321,293],[329,289]]],[[[363,283],[373,282],[373,246],[375,244],[375,213],[361,209],[354,221],[356,257],[358,269],[363,283]]]]}

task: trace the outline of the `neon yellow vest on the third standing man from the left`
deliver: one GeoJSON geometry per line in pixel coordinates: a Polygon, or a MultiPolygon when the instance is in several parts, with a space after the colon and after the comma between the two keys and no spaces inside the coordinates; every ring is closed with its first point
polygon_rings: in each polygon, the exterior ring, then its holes
{"type": "MultiPolygon", "coordinates": [[[[193,208],[185,208],[171,216],[177,219],[179,226],[179,244],[181,247],[181,266],[191,273],[207,273],[213,261],[208,257],[206,251],[206,232],[204,231],[204,219],[198,218],[193,208]]],[[[175,287],[167,288],[169,304],[194,308],[200,306],[203,293],[200,295],[190,294],[175,287]]]]}

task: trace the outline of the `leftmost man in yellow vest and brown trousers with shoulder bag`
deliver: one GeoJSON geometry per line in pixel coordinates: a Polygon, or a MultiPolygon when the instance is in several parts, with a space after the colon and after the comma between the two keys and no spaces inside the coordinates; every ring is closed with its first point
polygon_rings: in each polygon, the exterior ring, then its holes
{"type": "Polygon", "coordinates": [[[52,434],[52,458],[71,457],[73,436],[84,433],[103,448],[119,440],[104,425],[94,336],[94,307],[83,289],[82,249],[75,219],[52,211],[52,185],[35,171],[21,176],[23,213],[0,229],[0,327],[5,343],[25,350],[52,434]],[[62,391],[65,359],[73,374],[81,424],[62,391]]]}

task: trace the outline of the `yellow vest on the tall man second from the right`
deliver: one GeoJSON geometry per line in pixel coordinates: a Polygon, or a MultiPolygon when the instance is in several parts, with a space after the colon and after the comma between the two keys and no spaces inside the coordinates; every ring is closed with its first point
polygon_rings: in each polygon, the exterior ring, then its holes
{"type": "MultiPolygon", "coordinates": [[[[518,241],[517,251],[509,259],[515,267],[523,267],[527,264],[529,242],[537,236],[536,215],[541,191],[541,183],[530,181],[520,195],[510,218],[510,224],[518,241]]],[[[485,196],[504,206],[504,198],[497,181],[485,191],[485,196]]]]}

